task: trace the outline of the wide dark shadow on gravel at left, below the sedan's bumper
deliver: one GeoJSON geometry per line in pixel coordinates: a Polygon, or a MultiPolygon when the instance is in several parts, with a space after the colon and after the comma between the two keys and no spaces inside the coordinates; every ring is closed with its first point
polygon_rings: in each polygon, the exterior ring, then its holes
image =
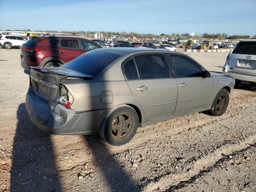
{"type": "Polygon", "coordinates": [[[62,191],[50,135],[34,126],[24,103],[18,107],[17,118],[10,191],[62,191]]]}

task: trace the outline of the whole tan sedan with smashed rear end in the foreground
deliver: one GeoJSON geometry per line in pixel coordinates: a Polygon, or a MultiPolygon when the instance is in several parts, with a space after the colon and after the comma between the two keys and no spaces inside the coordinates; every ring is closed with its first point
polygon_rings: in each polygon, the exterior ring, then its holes
{"type": "Polygon", "coordinates": [[[61,67],[32,67],[26,109],[51,134],[99,132],[122,145],[138,127],[202,111],[221,116],[233,87],[186,54],[102,48],[61,67]]]}

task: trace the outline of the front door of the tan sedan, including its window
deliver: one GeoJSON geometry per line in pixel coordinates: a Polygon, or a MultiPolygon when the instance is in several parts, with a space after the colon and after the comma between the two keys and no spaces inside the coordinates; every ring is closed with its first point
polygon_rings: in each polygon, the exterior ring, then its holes
{"type": "Polygon", "coordinates": [[[178,101],[174,114],[195,111],[210,106],[214,84],[209,72],[194,60],[179,54],[169,54],[178,84],[178,101]],[[204,76],[208,73],[209,77],[204,76]]]}

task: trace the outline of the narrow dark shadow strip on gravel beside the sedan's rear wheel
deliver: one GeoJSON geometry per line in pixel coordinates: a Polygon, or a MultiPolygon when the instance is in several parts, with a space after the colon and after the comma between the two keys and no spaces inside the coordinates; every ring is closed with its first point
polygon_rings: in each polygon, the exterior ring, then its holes
{"type": "Polygon", "coordinates": [[[135,192],[138,190],[136,189],[136,184],[134,184],[130,176],[126,173],[126,166],[118,162],[114,155],[110,154],[108,144],[100,140],[98,134],[92,136],[83,135],[83,137],[92,151],[95,162],[97,162],[104,175],[104,179],[102,178],[102,180],[108,183],[111,191],[135,192]]]}

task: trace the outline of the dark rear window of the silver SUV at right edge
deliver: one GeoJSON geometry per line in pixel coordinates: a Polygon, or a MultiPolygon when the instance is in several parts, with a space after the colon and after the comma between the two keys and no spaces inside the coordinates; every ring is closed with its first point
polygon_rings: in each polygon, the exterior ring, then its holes
{"type": "Polygon", "coordinates": [[[256,42],[239,42],[232,53],[256,55],[256,42]]]}

